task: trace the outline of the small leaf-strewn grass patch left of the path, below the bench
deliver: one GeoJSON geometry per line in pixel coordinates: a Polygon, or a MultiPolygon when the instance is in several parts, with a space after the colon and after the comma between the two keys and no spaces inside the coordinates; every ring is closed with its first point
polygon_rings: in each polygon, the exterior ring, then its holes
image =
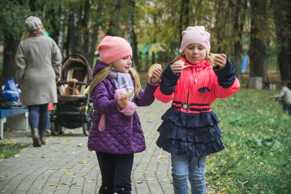
{"type": "Polygon", "coordinates": [[[27,144],[14,144],[13,142],[7,142],[6,140],[6,143],[0,143],[0,159],[14,156],[18,154],[22,148],[27,146],[27,144]]]}

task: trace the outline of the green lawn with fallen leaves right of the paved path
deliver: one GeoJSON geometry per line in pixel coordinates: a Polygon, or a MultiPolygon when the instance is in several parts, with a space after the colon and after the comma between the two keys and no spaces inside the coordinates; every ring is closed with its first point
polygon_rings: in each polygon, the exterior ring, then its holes
{"type": "Polygon", "coordinates": [[[207,160],[206,177],[218,193],[291,193],[291,116],[268,96],[242,88],[212,104],[226,147],[207,160]]]}

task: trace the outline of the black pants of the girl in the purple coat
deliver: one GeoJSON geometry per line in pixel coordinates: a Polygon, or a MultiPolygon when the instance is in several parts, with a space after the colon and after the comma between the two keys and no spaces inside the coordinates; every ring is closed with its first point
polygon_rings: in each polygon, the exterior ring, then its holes
{"type": "Polygon", "coordinates": [[[99,194],[131,194],[133,153],[110,154],[96,152],[102,175],[99,194]]]}

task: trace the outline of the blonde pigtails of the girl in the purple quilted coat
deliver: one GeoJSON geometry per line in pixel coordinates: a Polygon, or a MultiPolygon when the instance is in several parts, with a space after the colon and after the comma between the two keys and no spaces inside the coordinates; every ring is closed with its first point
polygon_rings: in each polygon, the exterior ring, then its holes
{"type": "MultiPolygon", "coordinates": [[[[113,70],[112,64],[108,64],[107,67],[105,67],[104,69],[97,73],[97,75],[93,78],[93,81],[90,84],[89,97],[91,97],[92,91],[95,88],[95,86],[101,81],[103,81],[112,70],[113,70]]],[[[136,97],[140,98],[139,97],[139,92],[141,90],[140,76],[138,75],[138,72],[132,67],[129,68],[129,74],[131,75],[134,81],[134,98],[136,97]]]]}

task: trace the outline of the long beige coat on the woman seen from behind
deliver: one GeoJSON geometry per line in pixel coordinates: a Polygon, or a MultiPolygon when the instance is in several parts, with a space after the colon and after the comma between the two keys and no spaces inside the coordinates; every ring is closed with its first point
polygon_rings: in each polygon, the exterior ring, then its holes
{"type": "Polygon", "coordinates": [[[21,41],[15,61],[23,105],[57,102],[56,80],[61,75],[62,55],[53,39],[36,36],[21,41]]]}

